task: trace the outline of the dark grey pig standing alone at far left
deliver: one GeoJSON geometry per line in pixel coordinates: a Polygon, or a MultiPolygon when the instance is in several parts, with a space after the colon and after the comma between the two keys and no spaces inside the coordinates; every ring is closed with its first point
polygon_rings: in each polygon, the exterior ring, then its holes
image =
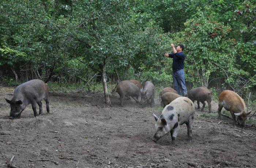
{"type": "Polygon", "coordinates": [[[11,100],[5,99],[11,105],[10,119],[20,118],[22,111],[28,104],[32,105],[34,117],[37,117],[36,105],[39,105],[39,115],[42,114],[42,99],[46,102],[46,111],[49,113],[49,91],[44,81],[34,79],[27,81],[14,90],[11,100]]]}

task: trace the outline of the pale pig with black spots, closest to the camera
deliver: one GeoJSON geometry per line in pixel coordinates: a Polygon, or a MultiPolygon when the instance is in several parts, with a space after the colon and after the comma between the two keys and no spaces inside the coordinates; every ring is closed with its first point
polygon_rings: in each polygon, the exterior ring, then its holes
{"type": "Polygon", "coordinates": [[[171,133],[172,144],[176,144],[176,138],[180,125],[186,124],[188,129],[188,141],[192,141],[192,124],[194,120],[195,107],[188,97],[178,97],[167,105],[160,117],[155,117],[155,133],[153,141],[158,141],[167,133],[171,133]]]}

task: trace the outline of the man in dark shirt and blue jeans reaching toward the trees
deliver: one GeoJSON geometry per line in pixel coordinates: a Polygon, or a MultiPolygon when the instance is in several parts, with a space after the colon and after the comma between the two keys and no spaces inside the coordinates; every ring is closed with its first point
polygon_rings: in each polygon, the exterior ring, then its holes
{"type": "Polygon", "coordinates": [[[173,58],[173,85],[174,89],[178,92],[179,95],[187,96],[187,87],[185,84],[185,75],[184,75],[184,60],[185,54],[183,52],[184,45],[179,44],[177,48],[174,47],[174,44],[171,44],[173,53],[164,54],[165,57],[173,58]]]}

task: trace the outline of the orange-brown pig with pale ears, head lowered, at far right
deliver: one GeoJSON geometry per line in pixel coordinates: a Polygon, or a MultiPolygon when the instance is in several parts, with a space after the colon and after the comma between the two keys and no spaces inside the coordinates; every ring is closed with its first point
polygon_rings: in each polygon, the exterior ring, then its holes
{"type": "Polygon", "coordinates": [[[219,119],[221,118],[221,110],[223,107],[231,113],[233,125],[235,125],[237,121],[237,125],[245,127],[247,117],[252,111],[245,111],[244,100],[236,92],[225,90],[219,95],[219,119]]]}

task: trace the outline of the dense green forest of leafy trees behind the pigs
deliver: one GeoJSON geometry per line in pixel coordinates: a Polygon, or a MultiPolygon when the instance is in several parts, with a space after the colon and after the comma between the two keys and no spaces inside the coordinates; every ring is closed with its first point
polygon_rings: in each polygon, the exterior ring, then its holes
{"type": "Polygon", "coordinates": [[[171,43],[185,45],[188,89],[255,101],[256,5],[249,0],[0,0],[0,80],[116,80],[172,86],[171,43]]]}

